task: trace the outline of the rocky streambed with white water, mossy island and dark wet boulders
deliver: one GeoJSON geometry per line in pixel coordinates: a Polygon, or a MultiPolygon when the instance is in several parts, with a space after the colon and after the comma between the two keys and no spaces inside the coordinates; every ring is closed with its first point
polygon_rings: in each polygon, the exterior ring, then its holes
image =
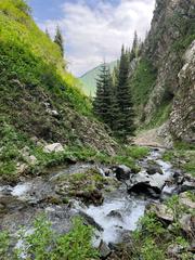
{"type": "MultiPolygon", "coordinates": [[[[126,166],[75,164],[43,177],[24,179],[14,186],[2,185],[0,230],[10,230],[16,237],[21,225],[30,230],[32,220],[44,213],[53,229],[64,233],[69,231],[72,218],[81,216],[95,227],[93,244],[101,244],[106,257],[112,245],[135,230],[148,205],[160,205],[172,194],[194,190],[194,179],[165,162],[162,153],[164,150],[152,148],[139,161],[138,173],[126,166]]],[[[166,218],[161,208],[156,210],[166,218]]]]}

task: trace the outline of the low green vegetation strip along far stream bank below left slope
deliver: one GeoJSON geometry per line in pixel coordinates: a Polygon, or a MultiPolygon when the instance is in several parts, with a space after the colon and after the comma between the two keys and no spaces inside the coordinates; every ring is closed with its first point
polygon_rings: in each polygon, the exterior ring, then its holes
{"type": "Polygon", "coordinates": [[[135,172],[139,170],[136,159],[148,154],[148,148],[127,146],[118,151],[117,155],[108,155],[87,146],[65,146],[61,153],[44,153],[43,145],[37,145],[34,139],[16,130],[4,120],[0,121],[0,178],[4,181],[16,181],[18,178],[17,164],[25,165],[25,172],[36,174],[44,172],[47,168],[77,161],[99,161],[105,165],[127,165],[135,172]],[[26,151],[27,150],[27,151],[26,151]],[[26,155],[27,152],[27,155],[26,155]],[[37,158],[36,164],[28,161],[28,155],[37,158]]]}

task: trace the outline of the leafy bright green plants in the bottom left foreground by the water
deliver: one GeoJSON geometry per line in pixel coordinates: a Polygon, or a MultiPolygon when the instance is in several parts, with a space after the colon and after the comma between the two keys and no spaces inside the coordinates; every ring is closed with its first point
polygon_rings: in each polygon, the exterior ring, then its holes
{"type": "Polygon", "coordinates": [[[52,231],[51,223],[44,217],[36,219],[32,227],[32,234],[21,232],[20,239],[23,240],[24,247],[12,251],[9,250],[11,236],[4,232],[0,233],[1,260],[20,260],[24,248],[29,260],[86,260],[99,257],[99,252],[91,245],[93,231],[83,225],[81,219],[74,219],[73,229],[62,235],[52,231]]]}

